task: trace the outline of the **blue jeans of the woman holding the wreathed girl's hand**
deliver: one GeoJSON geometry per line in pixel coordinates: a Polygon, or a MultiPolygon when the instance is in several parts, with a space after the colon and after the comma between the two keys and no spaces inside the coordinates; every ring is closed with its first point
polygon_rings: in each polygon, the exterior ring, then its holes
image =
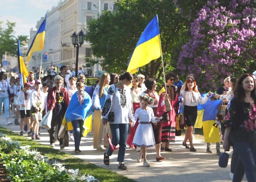
{"type": "MultiPolygon", "coordinates": [[[[112,134],[112,144],[114,146],[117,146],[119,144],[118,162],[124,162],[126,139],[127,139],[129,124],[110,124],[109,126],[112,134]]],[[[109,147],[107,154],[111,156],[112,153],[113,152],[109,147]]]]}

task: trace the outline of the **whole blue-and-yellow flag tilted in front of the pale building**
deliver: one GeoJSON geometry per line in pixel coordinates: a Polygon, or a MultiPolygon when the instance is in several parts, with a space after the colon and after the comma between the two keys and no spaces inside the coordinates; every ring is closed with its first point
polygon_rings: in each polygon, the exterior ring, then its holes
{"type": "MultiPolygon", "coordinates": [[[[47,14],[46,14],[47,15],[47,14]]],[[[30,61],[32,54],[36,51],[39,50],[43,50],[44,47],[44,36],[45,36],[45,28],[46,28],[46,15],[45,18],[42,22],[42,24],[40,25],[36,36],[34,36],[34,39],[28,49],[28,53],[26,56],[28,56],[27,58],[27,62],[30,61]]]]}

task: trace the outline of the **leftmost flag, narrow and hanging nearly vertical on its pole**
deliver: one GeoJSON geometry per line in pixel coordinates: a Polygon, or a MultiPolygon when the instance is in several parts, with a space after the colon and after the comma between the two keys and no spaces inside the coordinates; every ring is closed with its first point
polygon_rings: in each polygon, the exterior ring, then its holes
{"type": "Polygon", "coordinates": [[[28,76],[28,70],[23,60],[21,50],[20,50],[20,42],[18,40],[18,64],[19,64],[19,77],[20,77],[20,85],[23,89],[24,84],[27,82],[26,77],[28,76]]]}

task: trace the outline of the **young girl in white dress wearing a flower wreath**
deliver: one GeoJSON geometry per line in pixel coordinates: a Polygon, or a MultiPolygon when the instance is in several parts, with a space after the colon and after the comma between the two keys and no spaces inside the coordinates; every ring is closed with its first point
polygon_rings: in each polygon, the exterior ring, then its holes
{"type": "Polygon", "coordinates": [[[139,125],[133,138],[133,145],[141,147],[141,152],[138,152],[137,161],[141,162],[143,154],[143,166],[149,167],[150,165],[147,162],[146,150],[147,147],[154,147],[156,144],[151,123],[156,123],[160,120],[159,118],[154,116],[153,109],[147,107],[154,102],[151,97],[148,97],[146,95],[139,95],[139,100],[141,102],[141,108],[138,108],[135,111],[133,117],[134,123],[136,122],[137,118],[139,119],[139,125]]]}

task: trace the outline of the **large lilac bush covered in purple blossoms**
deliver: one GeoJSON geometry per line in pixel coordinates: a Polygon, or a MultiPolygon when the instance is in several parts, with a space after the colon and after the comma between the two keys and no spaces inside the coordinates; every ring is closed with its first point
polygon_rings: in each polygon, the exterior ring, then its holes
{"type": "Polygon", "coordinates": [[[227,76],[256,69],[256,18],[250,0],[231,0],[222,7],[208,1],[191,23],[189,42],[178,59],[181,73],[194,73],[201,89],[216,90],[227,76]]]}

